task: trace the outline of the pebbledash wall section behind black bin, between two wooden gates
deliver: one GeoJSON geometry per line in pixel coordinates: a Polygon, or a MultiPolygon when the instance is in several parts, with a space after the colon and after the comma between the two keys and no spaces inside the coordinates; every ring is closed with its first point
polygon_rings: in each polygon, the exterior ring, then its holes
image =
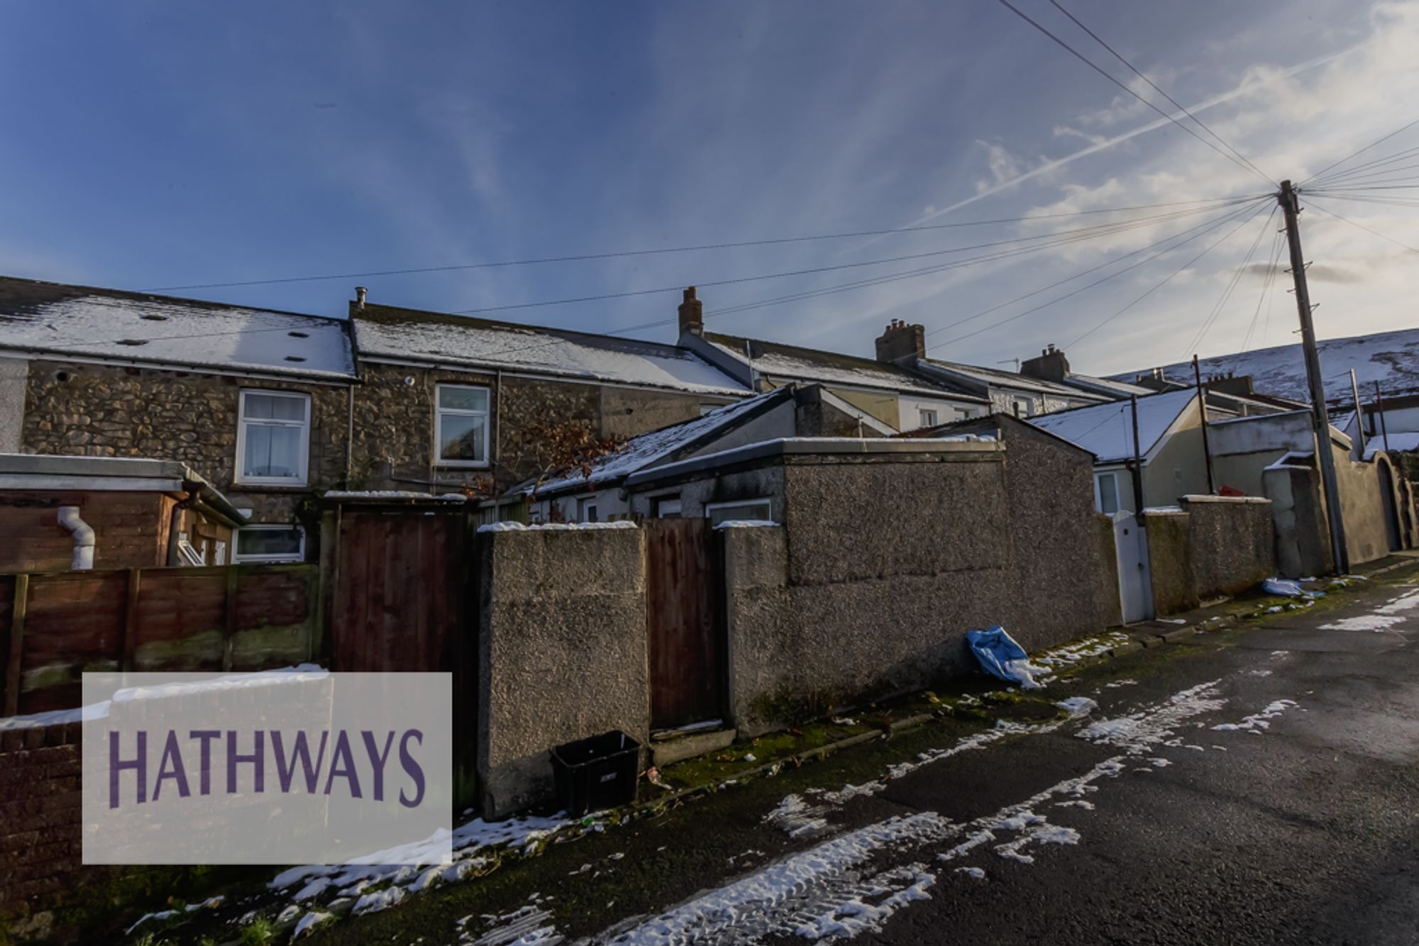
{"type": "Polygon", "coordinates": [[[552,796],[549,749],[650,739],[643,533],[481,532],[478,780],[488,818],[552,796]]]}

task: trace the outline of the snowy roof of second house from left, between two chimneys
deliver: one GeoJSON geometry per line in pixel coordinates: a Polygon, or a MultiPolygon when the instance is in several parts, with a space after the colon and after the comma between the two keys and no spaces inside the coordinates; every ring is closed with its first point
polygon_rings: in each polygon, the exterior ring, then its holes
{"type": "Polygon", "coordinates": [[[379,305],[356,311],[353,326],[360,357],[470,365],[704,394],[748,393],[728,374],[674,345],[379,305]]]}

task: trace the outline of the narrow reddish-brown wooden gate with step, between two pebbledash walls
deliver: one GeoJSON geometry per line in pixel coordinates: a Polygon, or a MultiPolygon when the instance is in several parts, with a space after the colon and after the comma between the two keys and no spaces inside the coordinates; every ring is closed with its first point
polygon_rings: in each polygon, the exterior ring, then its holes
{"type": "Polygon", "coordinates": [[[650,723],[670,729],[724,715],[722,577],[708,519],[647,519],[650,723]]]}

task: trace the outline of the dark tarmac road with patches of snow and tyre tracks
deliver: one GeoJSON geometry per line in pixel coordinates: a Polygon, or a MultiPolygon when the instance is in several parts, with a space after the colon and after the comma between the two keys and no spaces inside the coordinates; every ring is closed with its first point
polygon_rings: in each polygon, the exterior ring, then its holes
{"type": "Polygon", "coordinates": [[[315,939],[1419,943],[1416,637],[1412,564],[315,939]]]}

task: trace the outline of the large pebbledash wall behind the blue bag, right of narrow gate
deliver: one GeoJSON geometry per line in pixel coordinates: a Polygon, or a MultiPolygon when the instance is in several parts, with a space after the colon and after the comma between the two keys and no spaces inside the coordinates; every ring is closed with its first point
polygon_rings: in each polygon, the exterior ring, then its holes
{"type": "Polygon", "coordinates": [[[782,528],[724,530],[741,735],[972,671],[969,630],[1002,624],[1036,651],[1118,621],[1091,458],[1019,435],[954,447],[931,460],[785,457],[782,528]],[[1036,488],[1074,465],[1078,502],[1036,488]],[[1071,556],[1051,560],[1056,543],[1071,556]]]}

